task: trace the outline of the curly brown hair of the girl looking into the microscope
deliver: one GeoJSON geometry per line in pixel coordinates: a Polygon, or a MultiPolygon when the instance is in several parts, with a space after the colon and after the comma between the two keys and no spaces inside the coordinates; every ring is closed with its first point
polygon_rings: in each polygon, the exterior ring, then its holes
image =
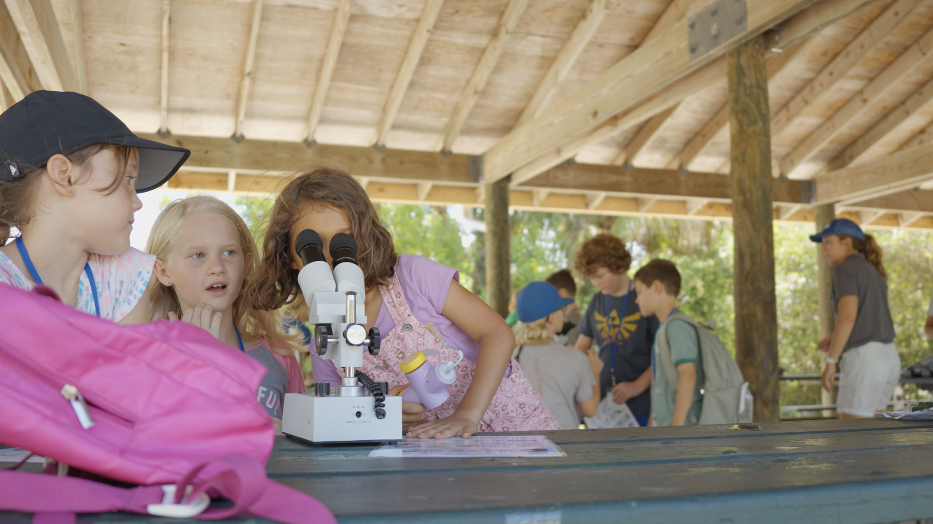
{"type": "Polygon", "coordinates": [[[314,168],[296,175],[272,205],[258,275],[244,289],[247,300],[255,308],[276,310],[289,298],[298,296],[299,269],[291,267],[295,259],[292,227],[303,214],[320,207],[340,210],[347,215],[350,236],[359,246],[357,259],[363,269],[367,291],[396,274],[398,255],[392,233],[376,214],[363,186],[346,172],[314,168]]]}

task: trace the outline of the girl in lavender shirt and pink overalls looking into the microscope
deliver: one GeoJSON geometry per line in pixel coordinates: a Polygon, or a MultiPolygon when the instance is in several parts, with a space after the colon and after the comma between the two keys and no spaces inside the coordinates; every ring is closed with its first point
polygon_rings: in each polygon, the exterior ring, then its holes
{"type": "MultiPolygon", "coordinates": [[[[369,329],[378,327],[382,351],[364,355],[362,371],[389,382],[397,394],[408,381],[399,363],[413,352],[456,360],[462,350],[450,399],[424,411],[404,407],[403,421],[413,423],[410,436],[444,438],[478,431],[560,429],[522,375],[511,352],[515,337],[502,317],[458,282],[456,269],[423,256],[397,255],[392,235],[383,226],[366,191],[349,174],[315,169],[296,176],[275,200],[263,245],[258,278],[247,287],[252,303],[266,310],[281,307],[297,289],[301,261],[293,248],[300,231],[313,229],[328,246],[337,233],[347,233],[359,246],[359,265],[366,286],[369,329]]],[[[332,361],[312,352],[314,378],[339,383],[332,361]]]]}

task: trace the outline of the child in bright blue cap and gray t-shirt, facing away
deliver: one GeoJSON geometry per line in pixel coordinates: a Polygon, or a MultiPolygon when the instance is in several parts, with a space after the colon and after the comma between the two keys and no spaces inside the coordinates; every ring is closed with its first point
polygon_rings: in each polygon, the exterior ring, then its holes
{"type": "Polygon", "coordinates": [[[577,429],[581,417],[592,417],[599,406],[599,372],[603,363],[593,355],[557,343],[554,334],[564,329],[564,313],[573,298],[564,298],[550,283],[533,282],[515,299],[519,323],[516,360],[541,395],[561,429],[577,429]]]}

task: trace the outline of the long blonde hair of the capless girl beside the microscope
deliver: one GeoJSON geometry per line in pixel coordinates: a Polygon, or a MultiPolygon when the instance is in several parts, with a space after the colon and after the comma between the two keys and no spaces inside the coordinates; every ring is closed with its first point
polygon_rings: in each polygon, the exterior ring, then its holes
{"type": "MultiPolygon", "coordinates": [[[[230,218],[230,222],[240,235],[240,244],[243,247],[247,264],[240,296],[233,301],[233,324],[241,333],[250,338],[266,338],[273,352],[283,356],[292,356],[294,350],[300,351],[298,338],[285,333],[282,317],[278,311],[258,310],[245,299],[243,290],[256,278],[258,259],[256,241],[253,240],[253,233],[250,232],[243,218],[222,200],[207,195],[174,200],[156,218],[152,231],[149,233],[149,240],[146,242],[146,253],[156,255],[163,263],[167,262],[174,247],[175,237],[185,217],[188,214],[197,213],[222,214],[230,218]]],[[[152,278],[149,279],[148,291],[150,320],[167,319],[169,311],[174,311],[179,317],[182,316],[183,311],[181,311],[181,304],[178,302],[174,288],[160,283],[157,278],[152,278]]]]}

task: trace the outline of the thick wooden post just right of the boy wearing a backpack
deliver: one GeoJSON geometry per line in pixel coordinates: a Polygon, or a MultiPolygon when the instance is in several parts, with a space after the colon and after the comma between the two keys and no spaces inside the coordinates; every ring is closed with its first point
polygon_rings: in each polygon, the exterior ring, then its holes
{"type": "Polygon", "coordinates": [[[755,421],[778,421],[771,123],[764,38],[726,55],[735,235],[735,360],[755,395],[755,421]]]}

